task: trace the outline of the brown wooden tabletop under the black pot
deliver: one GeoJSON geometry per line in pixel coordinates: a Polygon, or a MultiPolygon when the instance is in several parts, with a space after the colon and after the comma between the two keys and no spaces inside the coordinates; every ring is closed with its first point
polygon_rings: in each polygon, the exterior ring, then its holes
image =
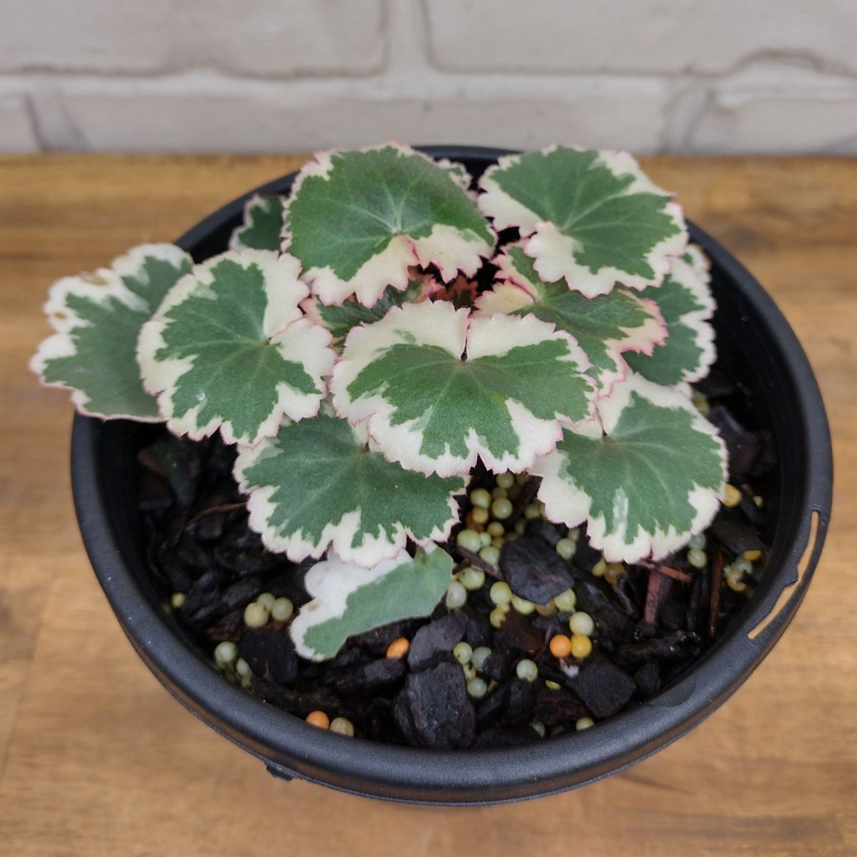
{"type": "Polygon", "coordinates": [[[174,702],[81,547],[67,397],[26,369],[54,279],[171,240],[299,157],[0,158],[0,852],[11,855],[857,854],[857,161],[652,158],[776,298],[818,373],[839,480],[776,650],[674,746],[513,806],[396,806],[282,782],[174,702]]]}

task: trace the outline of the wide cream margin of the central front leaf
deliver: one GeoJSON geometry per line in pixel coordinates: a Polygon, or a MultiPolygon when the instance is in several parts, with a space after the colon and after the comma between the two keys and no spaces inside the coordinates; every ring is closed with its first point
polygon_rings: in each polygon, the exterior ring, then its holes
{"type": "MultiPolygon", "coordinates": [[[[553,420],[542,420],[514,399],[506,399],[512,430],[519,440],[517,455],[506,452],[500,458],[494,456],[483,445],[476,428],[471,427],[464,439],[467,456],[453,455],[447,445],[440,458],[431,458],[420,452],[423,443],[420,423],[425,417],[393,426],[395,408],[384,398],[383,390],[352,400],[348,387],[363,369],[398,343],[436,345],[457,358],[466,349],[468,358],[476,359],[501,356],[518,345],[535,345],[546,339],[562,339],[566,343],[568,353],[560,358],[561,362],[570,363],[581,373],[589,369],[589,358],[572,336],[533,316],[471,314],[469,309],[455,309],[447,301],[405,304],[403,308],[391,309],[374,325],[357,327],[349,333],[342,359],[333,369],[330,384],[333,408],[339,417],[352,424],[367,421],[369,434],[385,457],[399,462],[406,470],[455,476],[470,470],[480,457],[495,473],[526,470],[536,456],[554,449],[562,437],[563,425],[578,423],[558,413],[554,414],[553,420]]],[[[584,378],[584,381],[590,384],[588,379],[584,378]]],[[[593,408],[594,390],[591,386],[587,398],[590,414],[586,419],[590,418],[593,408]]]]}

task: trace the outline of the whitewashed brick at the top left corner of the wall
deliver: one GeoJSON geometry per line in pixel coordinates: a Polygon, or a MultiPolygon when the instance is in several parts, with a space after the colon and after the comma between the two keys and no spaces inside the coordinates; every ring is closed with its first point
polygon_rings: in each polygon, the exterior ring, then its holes
{"type": "Polygon", "coordinates": [[[381,0],[0,0],[0,71],[364,75],[381,0]]]}

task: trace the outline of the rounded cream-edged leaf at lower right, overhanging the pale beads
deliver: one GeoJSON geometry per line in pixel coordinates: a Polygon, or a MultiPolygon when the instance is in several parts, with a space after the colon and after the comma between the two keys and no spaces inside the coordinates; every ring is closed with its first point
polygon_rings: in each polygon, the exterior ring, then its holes
{"type": "Polygon", "coordinates": [[[659,560],[705,529],[719,507],[726,451],[682,393],[639,375],[598,400],[596,423],[567,431],[533,468],[552,521],[587,522],[609,561],[659,560]]]}

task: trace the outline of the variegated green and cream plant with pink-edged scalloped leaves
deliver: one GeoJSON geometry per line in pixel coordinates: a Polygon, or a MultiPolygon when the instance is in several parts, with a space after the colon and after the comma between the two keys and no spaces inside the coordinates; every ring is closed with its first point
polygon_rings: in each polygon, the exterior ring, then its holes
{"type": "Polygon", "coordinates": [[[704,530],[726,456],[689,385],[713,310],[680,207],[630,155],[555,146],[476,184],[390,142],[249,197],[201,264],[143,244],[60,280],[32,366],[81,413],[237,445],[250,527],[326,556],[292,623],[323,659],[431,612],[477,461],[541,476],[548,519],[607,560],[704,530]]]}

